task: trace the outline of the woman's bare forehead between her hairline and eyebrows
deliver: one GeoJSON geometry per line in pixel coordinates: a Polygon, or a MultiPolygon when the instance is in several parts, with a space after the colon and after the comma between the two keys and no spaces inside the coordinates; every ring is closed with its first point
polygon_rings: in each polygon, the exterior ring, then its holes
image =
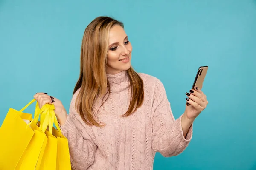
{"type": "Polygon", "coordinates": [[[126,36],[127,35],[122,26],[114,25],[109,30],[109,43],[123,41],[126,36]]]}

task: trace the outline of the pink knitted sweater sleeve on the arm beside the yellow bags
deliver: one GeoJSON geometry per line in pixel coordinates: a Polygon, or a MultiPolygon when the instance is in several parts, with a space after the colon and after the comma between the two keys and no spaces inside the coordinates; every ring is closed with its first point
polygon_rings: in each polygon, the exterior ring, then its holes
{"type": "Polygon", "coordinates": [[[85,123],[75,109],[76,96],[77,93],[71,100],[67,121],[60,128],[68,139],[72,169],[85,170],[93,164],[97,146],[87,133],[88,127],[85,127],[85,123]]]}

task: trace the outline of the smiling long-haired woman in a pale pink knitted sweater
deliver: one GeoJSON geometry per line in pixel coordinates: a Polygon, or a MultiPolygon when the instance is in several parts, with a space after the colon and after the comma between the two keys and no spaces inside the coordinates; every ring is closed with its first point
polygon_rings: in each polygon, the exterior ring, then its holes
{"type": "Polygon", "coordinates": [[[190,105],[175,120],[163,84],[137,74],[131,52],[123,24],[97,17],[84,31],[69,114],[47,93],[34,96],[40,108],[54,103],[73,169],[151,170],[156,152],[176,156],[192,138],[192,123],[206,108],[206,96],[191,89],[186,93],[190,105]]]}

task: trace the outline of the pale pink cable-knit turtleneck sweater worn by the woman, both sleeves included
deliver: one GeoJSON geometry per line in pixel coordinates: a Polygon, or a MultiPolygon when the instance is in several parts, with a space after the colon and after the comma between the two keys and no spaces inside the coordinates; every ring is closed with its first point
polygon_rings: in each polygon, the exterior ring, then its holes
{"type": "MultiPolygon", "coordinates": [[[[126,71],[108,74],[111,93],[96,116],[105,127],[89,126],[75,109],[78,91],[73,95],[67,121],[61,131],[69,141],[70,159],[75,170],[152,170],[156,152],[165,157],[183,152],[192,138],[192,126],[186,139],[181,116],[175,120],[159,79],[140,74],[144,82],[143,105],[128,117],[122,117],[130,103],[126,71]]],[[[96,110],[95,110],[96,111],[96,110]]]]}

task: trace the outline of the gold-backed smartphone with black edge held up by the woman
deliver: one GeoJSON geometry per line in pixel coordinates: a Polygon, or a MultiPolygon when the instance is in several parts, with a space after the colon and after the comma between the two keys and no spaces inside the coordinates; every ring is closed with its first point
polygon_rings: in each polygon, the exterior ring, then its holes
{"type": "MultiPolygon", "coordinates": [[[[203,88],[203,82],[204,82],[204,78],[206,76],[207,71],[208,71],[208,66],[201,66],[198,68],[194,83],[192,85],[192,89],[194,89],[195,87],[198,87],[200,89],[203,88]]],[[[187,105],[189,106],[190,104],[187,103],[187,105]]]]}

